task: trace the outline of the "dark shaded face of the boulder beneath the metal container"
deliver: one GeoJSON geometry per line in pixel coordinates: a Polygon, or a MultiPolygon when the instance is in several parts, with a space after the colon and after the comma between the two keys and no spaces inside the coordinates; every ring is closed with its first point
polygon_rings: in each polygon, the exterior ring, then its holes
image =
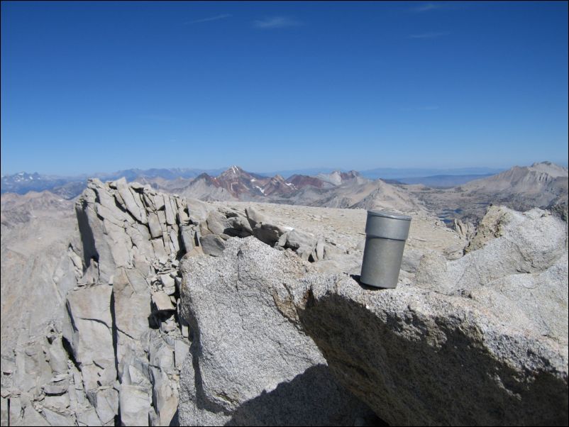
{"type": "MultiPolygon", "coordinates": [[[[567,426],[563,373],[536,364],[524,378],[492,353],[472,319],[411,310],[378,316],[338,294],[309,301],[299,318],[331,371],[394,425],[567,426]]],[[[524,345],[513,340],[495,343],[524,345]]]]}

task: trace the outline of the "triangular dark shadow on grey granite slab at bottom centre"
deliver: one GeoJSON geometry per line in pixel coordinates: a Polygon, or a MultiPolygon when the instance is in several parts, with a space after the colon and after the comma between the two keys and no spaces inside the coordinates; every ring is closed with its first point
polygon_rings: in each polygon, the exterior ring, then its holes
{"type": "Polygon", "coordinates": [[[387,424],[338,384],[326,365],[309,367],[272,392],[246,401],[226,426],[378,426],[387,424]]]}

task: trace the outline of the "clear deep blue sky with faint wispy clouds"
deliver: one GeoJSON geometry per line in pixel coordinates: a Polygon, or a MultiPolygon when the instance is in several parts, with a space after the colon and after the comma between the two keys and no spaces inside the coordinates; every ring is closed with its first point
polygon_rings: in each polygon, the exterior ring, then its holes
{"type": "Polygon", "coordinates": [[[568,3],[1,2],[1,170],[568,158],[568,3]]]}

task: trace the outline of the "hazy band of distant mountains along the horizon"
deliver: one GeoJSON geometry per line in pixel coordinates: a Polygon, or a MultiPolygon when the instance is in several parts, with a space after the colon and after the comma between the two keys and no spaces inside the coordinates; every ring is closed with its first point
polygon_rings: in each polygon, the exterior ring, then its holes
{"type": "MultiPolygon", "coordinates": [[[[239,200],[403,212],[431,211],[449,223],[454,218],[476,222],[490,204],[504,204],[522,211],[541,207],[558,210],[561,214],[566,212],[568,204],[568,169],[551,162],[516,166],[490,176],[436,175],[375,180],[356,171],[292,174],[285,179],[280,174],[265,176],[247,172],[236,165],[223,171],[128,170],[99,174],[99,177],[104,180],[126,177],[160,192],[204,201],[239,200]]],[[[84,177],[73,180],[21,172],[2,177],[2,192],[25,193],[32,190],[29,195],[38,204],[46,199],[56,200],[34,193],[49,190],[57,194],[59,203],[59,199],[77,196],[86,182],[84,177]]],[[[7,196],[11,195],[3,194],[3,201],[11,200],[6,199],[7,196]]],[[[8,205],[3,204],[3,209],[5,206],[8,205]]],[[[22,216],[24,213],[19,214],[22,216]]]]}

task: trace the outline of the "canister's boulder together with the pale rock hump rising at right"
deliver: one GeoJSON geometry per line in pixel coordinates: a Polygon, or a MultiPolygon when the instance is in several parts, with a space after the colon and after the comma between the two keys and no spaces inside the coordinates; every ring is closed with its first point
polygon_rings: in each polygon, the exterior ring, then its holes
{"type": "Polygon", "coordinates": [[[568,423],[567,223],[492,206],[483,224],[397,289],[314,275],[291,293],[332,372],[390,424],[568,423]]]}

